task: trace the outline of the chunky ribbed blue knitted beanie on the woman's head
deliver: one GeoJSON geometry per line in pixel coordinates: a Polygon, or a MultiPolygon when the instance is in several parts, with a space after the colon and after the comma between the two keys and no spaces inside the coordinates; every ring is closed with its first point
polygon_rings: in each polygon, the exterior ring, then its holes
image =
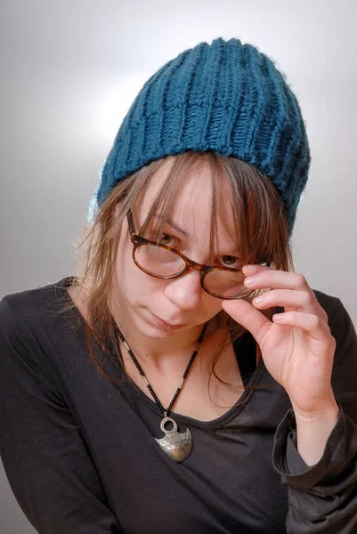
{"type": "Polygon", "coordinates": [[[310,152],[296,96],[251,44],[217,38],[180,53],[143,85],[101,170],[98,206],[119,180],[186,150],[234,156],[270,177],[293,230],[310,152]]]}

